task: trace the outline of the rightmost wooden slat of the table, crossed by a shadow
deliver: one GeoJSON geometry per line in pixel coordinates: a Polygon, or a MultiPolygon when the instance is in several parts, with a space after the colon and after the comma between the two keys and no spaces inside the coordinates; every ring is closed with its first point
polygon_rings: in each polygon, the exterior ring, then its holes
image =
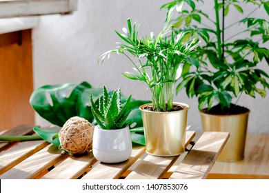
{"type": "Polygon", "coordinates": [[[229,135],[228,132],[203,132],[170,179],[205,179],[229,135]]]}

